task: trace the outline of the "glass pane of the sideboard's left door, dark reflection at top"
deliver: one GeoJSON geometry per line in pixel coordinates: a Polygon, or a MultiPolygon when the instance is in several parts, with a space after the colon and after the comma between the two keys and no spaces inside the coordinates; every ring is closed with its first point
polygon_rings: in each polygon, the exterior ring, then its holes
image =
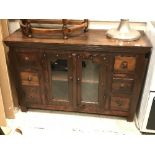
{"type": "Polygon", "coordinates": [[[68,62],[58,59],[51,62],[52,97],[58,100],[68,100],[68,62]]]}

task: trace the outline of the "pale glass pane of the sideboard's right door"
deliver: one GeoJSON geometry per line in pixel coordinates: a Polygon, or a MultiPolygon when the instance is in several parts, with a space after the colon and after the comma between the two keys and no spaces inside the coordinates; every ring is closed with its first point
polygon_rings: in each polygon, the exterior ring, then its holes
{"type": "Polygon", "coordinates": [[[99,65],[82,61],[82,101],[98,104],[99,65]]]}

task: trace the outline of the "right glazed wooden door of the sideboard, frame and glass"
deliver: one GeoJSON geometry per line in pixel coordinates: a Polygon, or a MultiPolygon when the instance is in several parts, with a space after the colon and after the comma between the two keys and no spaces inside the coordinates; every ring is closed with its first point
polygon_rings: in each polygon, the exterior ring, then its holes
{"type": "Polygon", "coordinates": [[[105,55],[77,56],[77,105],[81,112],[100,113],[106,102],[105,55]]]}

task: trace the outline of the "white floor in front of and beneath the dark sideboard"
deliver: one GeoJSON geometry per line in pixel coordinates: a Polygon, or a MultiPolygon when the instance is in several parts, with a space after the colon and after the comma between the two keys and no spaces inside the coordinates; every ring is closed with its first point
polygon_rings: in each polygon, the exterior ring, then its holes
{"type": "MultiPolygon", "coordinates": [[[[125,118],[66,113],[58,111],[29,110],[16,113],[16,119],[8,119],[8,127],[19,128],[23,135],[93,134],[140,135],[134,122],[125,118]]],[[[11,132],[14,134],[14,132],[11,132]]]]}

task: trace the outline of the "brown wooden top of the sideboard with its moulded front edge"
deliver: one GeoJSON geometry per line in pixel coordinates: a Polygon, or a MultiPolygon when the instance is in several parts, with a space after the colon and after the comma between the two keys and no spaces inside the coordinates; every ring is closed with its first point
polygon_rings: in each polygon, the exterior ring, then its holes
{"type": "MultiPolygon", "coordinates": [[[[7,45],[15,45],[15,46],[30,46],[33,44],[33,47],[38,47],[39,45],[43,47],[48,47],[48,45],[52,44],[55,45],[51,48],[72,48],[78,50],[85,50],[86,51],[107,51],[107,52],[134,52],[132,49],[141,49],[140,53],[146,52],[145,48],[151,48],[151,44],[144,34],[144,32],[141,32],[141,38],[137,41],[132,42],[124,42],[121,40],[115,40],[115,39],[109,39],[106,37],[106,31],[105,30],[89,30],[87,33],[83,33],[79,36],[73,36],[67,40],[61,39],[61,38],[52,38],[52,39],[39,39],[39,38],[28,38],[22,35],[20,31],[17,31],[13,34],[11,34],[9,37],[5,38],[4,41],[7,45]],[[16,44],[20,43],[20,44],[16,44]],[[94,49],[91,49],[91,47],[94,47],[94,49]],[[115,51],[114,48],[115,47],[115,51]],[[124,47],[128,47],[128,49],[123,51],[124,47]]],[[[70,49],[69,48],[69,49],[70,49]]],[[[137,51],[139,52],[139,51],[137,51]]]]}

